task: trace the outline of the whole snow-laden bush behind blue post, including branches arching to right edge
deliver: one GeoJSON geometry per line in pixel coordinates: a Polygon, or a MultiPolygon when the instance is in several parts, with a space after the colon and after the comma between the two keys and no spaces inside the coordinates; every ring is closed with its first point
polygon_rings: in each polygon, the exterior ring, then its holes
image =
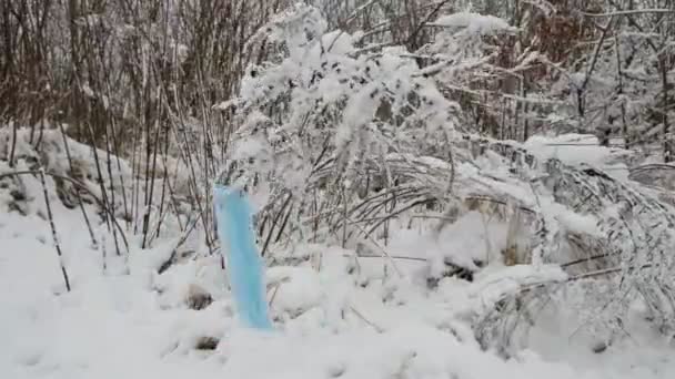
{"type": "Polygon", "coordinates": [[[469,44],[511,29],[473,13],[441,21],[445,29],[429,48],[446,43],[461,59],[427,66],[401,47],[356,48],[357,38],[326,31],[308,6],[253,39],[266,60],[248,69],[240,98],[221,106],[240,116],[225,176],[255,190],[263,255],[274,260],[273,250],[312,242],[395,262],[385,247],[399,233],[393,224],[412,227],[424,217],[436,238],[480,211],[506,229],[496,258],[442,259],[442,268],[426,272],[431,288],[444,276],[472,280],[494,262],[567,273],[510,287],[493,306],[470,313],[485,346],[508,349],[523,313],[536,314],[561,288],[577,285],[588,288],[580,307],[594,309],[593,325],[621,329],[642,303],[669,332],[673,208],[628,180],[621,164],[627,151],[591,147],[586,158],[565,162],[546,152],[545,140],[520,145],[464,133],[462,110],[439,91],[437,78],[464,83],[454,73],[491,59],[469,44]],[[602,285],[586,286],[595,281],[602,285]]]}

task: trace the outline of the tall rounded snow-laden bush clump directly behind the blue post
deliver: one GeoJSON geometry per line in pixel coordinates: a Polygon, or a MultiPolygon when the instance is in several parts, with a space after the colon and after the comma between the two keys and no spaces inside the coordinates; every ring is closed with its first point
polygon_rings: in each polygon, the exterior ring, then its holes
{"type": "Polygon", "coordinates": [[[404,48],[357,52],[351,34],[325,24],[315,8],[298,4],[261,29],[270,53],[242,79],[232,157],[271,184],[272,214],[262,219],[278,219],[282,206],[282,225],[299,234],[316,219],[323,225],[314,229],[342,234],[363,223],[347,234],[370,234],[384,205],[395,204],[392,216],[445,201],[457,106],[404,48]],[[382,191],[389,194],[369,199],[382,191]],[[285,192],[295,206],[274,204],[285,192]],[[308,201],[315,192],[319,204],[308,201]]]}

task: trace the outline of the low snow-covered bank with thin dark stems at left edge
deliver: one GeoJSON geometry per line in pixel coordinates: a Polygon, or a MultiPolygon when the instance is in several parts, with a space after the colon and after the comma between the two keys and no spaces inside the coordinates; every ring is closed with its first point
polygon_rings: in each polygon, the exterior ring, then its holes
{"type": "Polygon", "coordinates": [[[79,211],[93,246],[110,234],[114,252],[122,254],[139,233],[150,246],[175,229],[192,231],[197,218],[184,165],[168,156],[155,161],[130,162],[59,129],[10,125],[0,130],[0,207],[48,221],[39,205],[47,195],[54,206],[79,211]]]}

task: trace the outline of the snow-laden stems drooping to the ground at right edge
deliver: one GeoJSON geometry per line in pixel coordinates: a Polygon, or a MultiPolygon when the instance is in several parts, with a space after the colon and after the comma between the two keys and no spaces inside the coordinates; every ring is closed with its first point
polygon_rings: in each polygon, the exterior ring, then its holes
{"type": "Polygon", "coordinates": [[[535,223],[528,233],[535,238],[531,260],[522,263],[556,264],[570,275],[562,283],[521,288],[495,308],[498,316],[490,315],[492,320],[484,321],[498,325],[492,330],[497,338],[508,337],[504,329],[515,331],[515,324],[525,322],[523,313],[541,310],[551,296],[570,285],[584,288],[578,306],[588,321],[626,332],[623,324],[639,304],[646,308],[644,317],[666,335],[673,332],[675,209],[659,201],[654,188],[626,178],[628,170],[616,161],[627,152],[615,150],[603,156],[597,154],[603,147],[595,147],[595,156],[583,162],[577,151],[551,157],[541,154],[542,145],[537,151],[536,144],[530,144],[534,150],[530,154],[517,144],[474,143],[478,153],[465,165],[475,167],[490,156],[492,162],[483,164],[483,172],[470,172],[464,181],[457,175],[459,182],[469,187],[470,181],[486,184],[480,188],[482,194],[530,209],[535,223]]]}

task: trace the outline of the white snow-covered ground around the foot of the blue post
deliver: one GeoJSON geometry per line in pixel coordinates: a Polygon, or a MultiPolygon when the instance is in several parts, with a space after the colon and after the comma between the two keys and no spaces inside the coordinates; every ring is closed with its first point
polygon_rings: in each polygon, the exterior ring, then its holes
{"type": "MultiPolygon", "coordinates": [[[[591,339],[571,327],[575,316],[562,309],[537,320],[530,350],[510,360],[481,350],[461,315],[536,276],[517,266],[486,269],[473,283],[446,278],[430,293],[415,280],[426,269],[422,260],[356,260],[347,250],[310,245],[285,253],[309,256],[306,263],[268,272],[278,331],[245,331],[216,257],[158,275],[172,240],[132,248],[128,257],[109,246],[103,257],[78,211],[54,207],[70,293],[48,223],[34,214],[0,215],[0,378],[675,378],[667,341],[645,329],[594,354],[591,339]],[[202,310],[185,305],[195,286],[213,297],[202,310]],[[204,337],[220,344],[197,349],[204,337]]],[[[478,234],[459,240],[483,227],[470,217],[432,240],[413,226],[396,233],[387,252],[490,255],[498,229],[484,229],[494,236],[488,244],[478,234]]]]}

